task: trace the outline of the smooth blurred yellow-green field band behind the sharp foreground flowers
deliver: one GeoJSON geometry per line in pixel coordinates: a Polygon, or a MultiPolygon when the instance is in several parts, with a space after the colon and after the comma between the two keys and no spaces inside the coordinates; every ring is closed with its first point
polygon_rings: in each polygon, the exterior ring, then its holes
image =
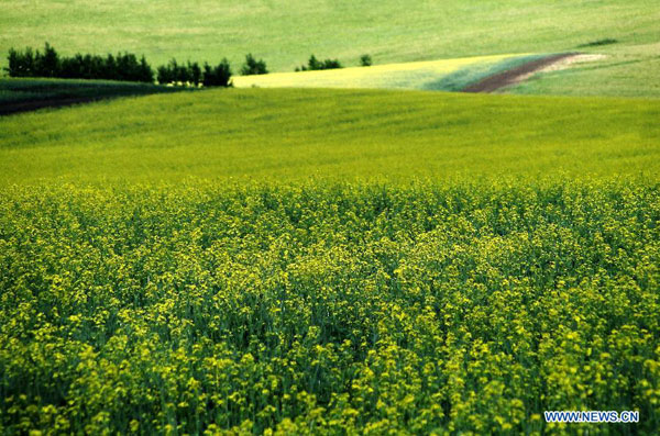
{"type": "Polygon", "coordinates": [[[660,174],[654,100],[206,90],[0,119],[0,181],[660,174]]]}

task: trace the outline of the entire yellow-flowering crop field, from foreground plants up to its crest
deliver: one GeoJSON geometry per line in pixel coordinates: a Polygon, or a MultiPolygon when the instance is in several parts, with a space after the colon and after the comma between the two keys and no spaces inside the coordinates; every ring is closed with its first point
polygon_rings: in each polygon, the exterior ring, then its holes
{"type": "Polygon", "coordinates": [[[0,434],[653,435],[658,108],[262,89],[2,119],[0,434]]]}

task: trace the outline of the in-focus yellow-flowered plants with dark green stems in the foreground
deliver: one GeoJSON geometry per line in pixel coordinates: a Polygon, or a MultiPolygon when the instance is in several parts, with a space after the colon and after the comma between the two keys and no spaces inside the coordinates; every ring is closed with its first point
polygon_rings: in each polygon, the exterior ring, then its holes
{"type": "Polygon", "coordinates": [[[659,217],[625,181],[3,188],[0,426],[650,435],[659,217]]]}

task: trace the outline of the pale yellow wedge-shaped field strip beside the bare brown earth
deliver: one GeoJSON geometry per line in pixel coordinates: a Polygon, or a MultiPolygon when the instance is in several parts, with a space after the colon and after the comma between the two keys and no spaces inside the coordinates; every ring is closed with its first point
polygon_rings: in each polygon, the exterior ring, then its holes
{"type": "Polygon", "coordinates": [[[372,88],[460,90],[529,59],[529,55],[477,56],[460,59],[387,64],[322,71],[238,76],[238,88],[372,88]]]}

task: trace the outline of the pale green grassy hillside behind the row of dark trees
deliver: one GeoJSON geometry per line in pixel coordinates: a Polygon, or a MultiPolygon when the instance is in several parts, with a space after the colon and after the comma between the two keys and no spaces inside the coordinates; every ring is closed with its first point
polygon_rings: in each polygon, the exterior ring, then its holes
{"type": "MultiPolygon", "coordinates": [[[[65,54],[144,54],[239,65],[252,52],[275,71],[292,71],[311,53],[356,65],[505,53],[547,53],[610,37],[660,41],[660,10],[649,0],[484,0],[400,2],[209,0],[4,0],[0,54],[45,41],[65,54]],[[118,24],[121,23],[121,24],[118,24]]],[[[2,56],[4,57],[4,56],[2,56]]]]}

